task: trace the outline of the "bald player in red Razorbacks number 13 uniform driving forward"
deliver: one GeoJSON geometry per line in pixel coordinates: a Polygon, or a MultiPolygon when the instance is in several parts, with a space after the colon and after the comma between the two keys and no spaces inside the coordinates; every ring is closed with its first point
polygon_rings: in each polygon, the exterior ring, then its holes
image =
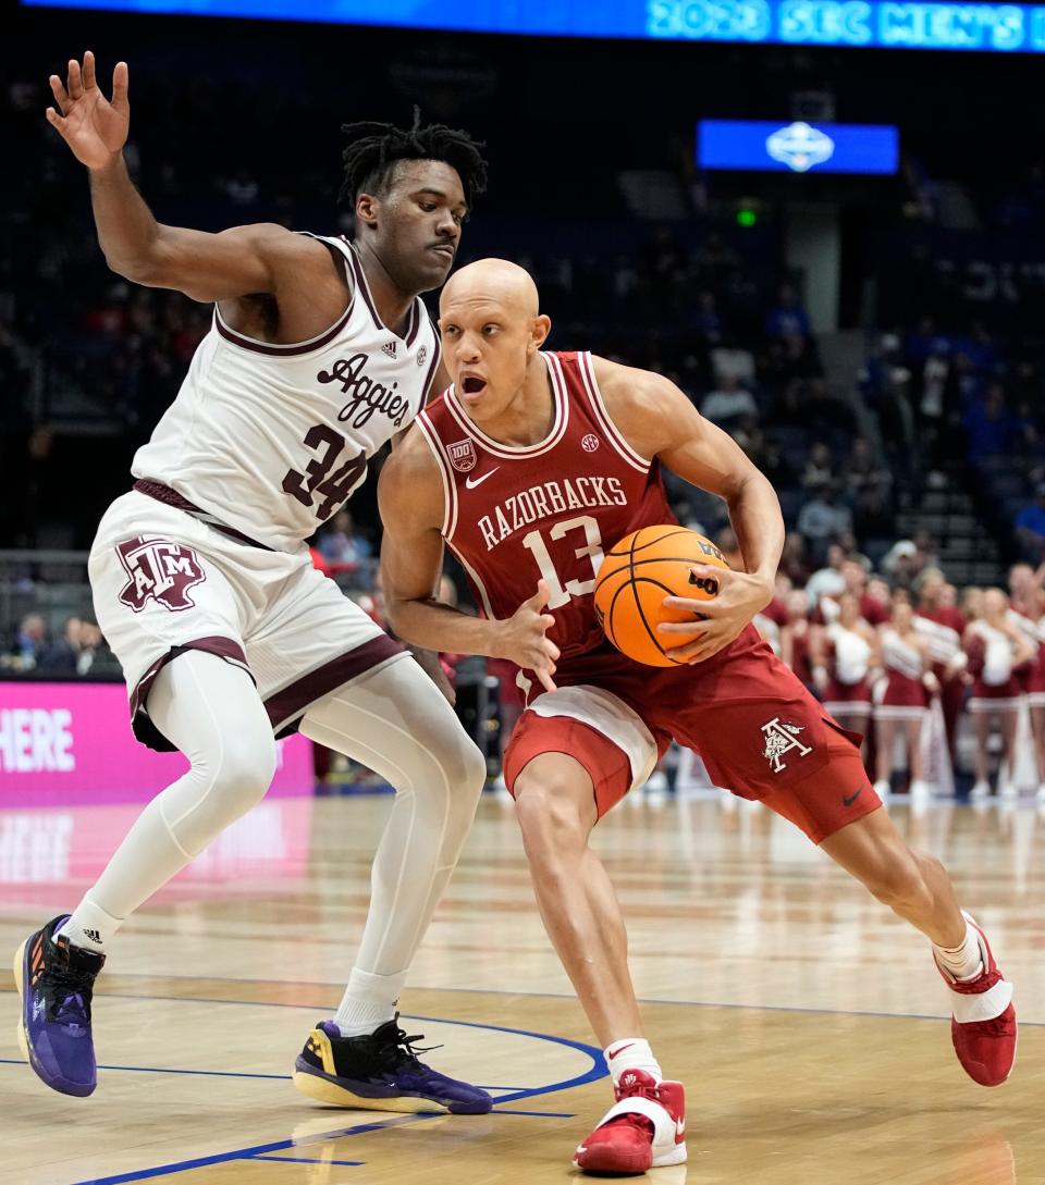
{"type": "MultiPolygon", "coordinates": [[[[391,621],[431,647],[508,659],[527,710],[506,755],[541,916],[613,1074],[616,1104],[577,1148],[591,1171],[685,1160],[681,1084],[642,1037],[621,912],[588,846],[669,736],[717,784],[761,799],[922,930],[954,991],[954,1044],[976,1081],[1008,1075],[1012,987],[959,909],[940,863],[912,852],[879,811],[850,735],[823,715],[750,626],[772,596],[783,523],[771,486],[672,383],[584,353],[543,353],[550,322],[514,264],[483,260],[443,290],[454,385],[429,404],[382,474],[391,621]],[[671,520],[665,465],[725,498],[746,571],[717,577],[703,636],[680,665],[640,666],[603,639],[592,606],[604,547],[671,520]],[[480,619],[432,598],[444,544],[480,619]],[[520,596],[536,588],[521,606],[520,596]],[[988,1019],[989,1018],[989,1019],[988,1019]]],[[[665,643],[686,633],[662,626],[665,643]]],[[[692,627],[688,628],[692,634],[692,627]]]]}

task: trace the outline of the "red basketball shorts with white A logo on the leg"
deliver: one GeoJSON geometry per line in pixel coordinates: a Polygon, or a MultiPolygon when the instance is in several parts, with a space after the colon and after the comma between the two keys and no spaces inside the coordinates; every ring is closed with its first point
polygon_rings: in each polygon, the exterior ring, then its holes
{"type": "Polygon", "coordinates": [[[814,844],[881,806],[842,729],[754,629],[697,666],[648,667],[609,646],[571,659],[534,697],[505,754],[514,793],[526,766],[564,752],[588,771],[598,816],[640,786],[672,737],[717,786],[757,799],[814,844]]]}

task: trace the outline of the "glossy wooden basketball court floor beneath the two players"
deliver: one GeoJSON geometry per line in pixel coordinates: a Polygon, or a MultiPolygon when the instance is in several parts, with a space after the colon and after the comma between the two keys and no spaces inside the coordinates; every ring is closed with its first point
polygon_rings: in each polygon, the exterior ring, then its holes
{"type": "MultiPolygon", "coordinates": [[[[102,1069],[88,1100],[53,1094],[21,1063],[5,972],[0,1181],[576,1178],[570,1158],[609,1103],[608,1081],[537,916],[512,808],[489,795],[402,1023],[444,1045],[429,1056],[441,1069],[488,1087],[494,1113],[340,1112],[291,1088],[308,1030],[340,999],[387,806],[303,800],[259,816],[263,827],[244,821],[137,915],[100,981],[102,1069]]],[[[924,940],[786,824],[736,801],[626,801],[598,847],[654,1049],[688,1097],[690,1162],[655,1170],[654,1183],[1045,1183],[1045,818],[892,813],[949,865],[1015,982],[1012,1080],[985,1090],[966,1078],[924,940]]],[[[97,828],[98,860],[122,826],[108,838],[97,828]]],[[[92,879],[47,854],[60,832],[52,812],[0,815],[4,950],[92,879]]]]}

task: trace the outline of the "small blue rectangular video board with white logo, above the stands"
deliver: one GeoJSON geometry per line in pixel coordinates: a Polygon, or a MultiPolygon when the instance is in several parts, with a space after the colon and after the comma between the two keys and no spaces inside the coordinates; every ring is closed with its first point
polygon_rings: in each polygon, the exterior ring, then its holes
{"type": "Polygon", "coordinates": [[[697,164],[768,173],[896,173],[899,132],[887,124],[701,120],[697,164]]]}

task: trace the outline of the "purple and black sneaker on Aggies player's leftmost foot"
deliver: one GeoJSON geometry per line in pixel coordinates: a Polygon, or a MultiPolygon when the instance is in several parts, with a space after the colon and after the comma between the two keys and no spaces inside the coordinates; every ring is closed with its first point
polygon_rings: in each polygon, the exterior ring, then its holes
{"type": "Polygon", "coordinates": [[[31,934],[14,956],[14,982],[21,997],[18,1043],[52,1090],[89,1095],[97,1085],[91,1039],[91,992],[105,956],[70,944],[55,930],[69,915],[31,934]]]}

